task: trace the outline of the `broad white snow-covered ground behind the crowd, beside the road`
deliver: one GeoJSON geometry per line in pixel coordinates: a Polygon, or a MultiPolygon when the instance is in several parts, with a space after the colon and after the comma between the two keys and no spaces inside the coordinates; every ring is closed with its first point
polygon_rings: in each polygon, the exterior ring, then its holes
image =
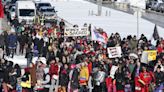
{"type": "MultiPolygon", "coordinates": [[[[46,0],[48,1],[48,0],[46,0]]],[[[122,37],[129,34],[137,35],[137,18],[134,15],[109,9],[102,8],[102,16],[91,16],[89,11],[97,12],[97,5],[84,0],[49,0],[58,11],[58,16],[64,18],[72,24],[83,25],[84,23],[92,24],[96,27],[101,27],[110,35],[118,32],[122,37]],[[108,16],[106,16],[108,12],[108,16]],[[109,14],[110,13],[110,14],[109,14]]],[[[153,23],[139,19],[139,34],[145,34],[148,39],[152,37],[154,30],[153,23]]],[[[164,29],[158,27],[160,36],[164,36],[164,29]]]]}

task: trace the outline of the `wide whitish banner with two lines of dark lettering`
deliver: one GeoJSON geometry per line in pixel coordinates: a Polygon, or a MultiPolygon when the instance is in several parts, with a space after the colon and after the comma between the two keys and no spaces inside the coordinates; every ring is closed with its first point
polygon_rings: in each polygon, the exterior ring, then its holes
{"type": "Polygon", "coordinates": [[[64,36],[74,37],[74,36],[88,36],[89,31],[87,27],[66,27],[64,30],[64,36]]]}

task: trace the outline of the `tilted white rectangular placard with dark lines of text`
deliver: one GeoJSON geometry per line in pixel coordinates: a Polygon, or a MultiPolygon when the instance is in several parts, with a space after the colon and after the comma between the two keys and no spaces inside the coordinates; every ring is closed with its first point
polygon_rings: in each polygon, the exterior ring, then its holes
{"type": "Polygon", "coordinates": [[[121,47],[109,47],[107,48],[108,50],[108,56],[109,58],[116,58],[116,57],[121,57],[121,47]]]}

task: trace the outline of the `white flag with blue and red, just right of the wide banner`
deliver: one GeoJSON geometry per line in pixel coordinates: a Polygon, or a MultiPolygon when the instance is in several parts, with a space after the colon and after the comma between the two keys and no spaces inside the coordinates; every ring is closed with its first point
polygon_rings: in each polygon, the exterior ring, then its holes
{"type": "Polygon", "coordinates": [[[91,30],[91,38],[92,40],[107,43],[107,36],[100,34],[96,29],[91,30]]]}

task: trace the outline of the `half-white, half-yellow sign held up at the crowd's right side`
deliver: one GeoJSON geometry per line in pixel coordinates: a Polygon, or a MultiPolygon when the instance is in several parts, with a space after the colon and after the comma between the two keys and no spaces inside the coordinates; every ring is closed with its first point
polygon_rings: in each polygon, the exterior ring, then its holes
{"type": "Polygon", "coordinates": [[[141,62],[148,64],[149,61],[156,60],[156,56],[157,56],[156,50],[143,51],[141,56],[141,62]]]}

